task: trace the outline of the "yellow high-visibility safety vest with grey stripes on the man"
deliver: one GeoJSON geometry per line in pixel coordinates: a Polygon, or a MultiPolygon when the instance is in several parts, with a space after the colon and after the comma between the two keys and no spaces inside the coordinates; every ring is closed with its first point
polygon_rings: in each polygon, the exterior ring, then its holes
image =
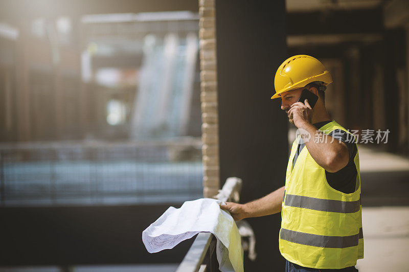
{"type": "MultiPolygon", "coordinates": [[[[320,128],[326,134],[334,129],[348,132],[335,121],[320,128]]],[[[297,145],[296,139],[285,178],[279,238],[281,255],[292,263],[311,268],[353,266],[357,259],[363,258],[358,152],[354,158],[355,192],[346,194],[328,184],[325,169],[314,161],[307,147],[302,149],[293,168],[297,145]]]]}

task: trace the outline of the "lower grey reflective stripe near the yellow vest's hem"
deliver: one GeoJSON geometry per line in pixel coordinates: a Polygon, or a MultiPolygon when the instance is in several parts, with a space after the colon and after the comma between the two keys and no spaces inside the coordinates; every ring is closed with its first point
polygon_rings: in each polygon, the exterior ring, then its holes
{"type": "Polygon", "coordinates": [[[327,248],[345,248],[358,245],[359,234],[351,236],[326,236],[304,232],[290,231],[281,228],[280,239],[305,245],[327,248]]]}

